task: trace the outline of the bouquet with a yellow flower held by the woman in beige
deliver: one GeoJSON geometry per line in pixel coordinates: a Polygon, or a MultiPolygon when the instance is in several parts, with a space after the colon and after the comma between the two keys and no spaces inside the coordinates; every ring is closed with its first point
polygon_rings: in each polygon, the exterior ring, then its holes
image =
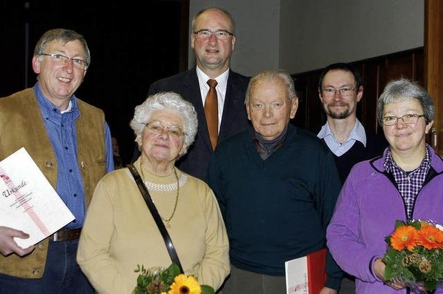
{"type": "Polygon", "coordinates": [[[168,268],[145,268],[137,265],[137,286],[133,294],[214,294],[214,289],[200,285],[192,275],[180,273],[177,264],[168,268]]]}

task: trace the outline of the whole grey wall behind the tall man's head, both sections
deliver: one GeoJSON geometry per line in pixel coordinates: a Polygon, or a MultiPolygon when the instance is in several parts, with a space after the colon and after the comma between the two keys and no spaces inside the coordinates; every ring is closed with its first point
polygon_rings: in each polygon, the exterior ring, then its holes
{"type": "Polygon", "coordinates": [[[233,14],[231,68],[244,75],[277,67],[293,74],[423,46],[424,0],[190,0],[190,19],[208,6],[233,14]]]}

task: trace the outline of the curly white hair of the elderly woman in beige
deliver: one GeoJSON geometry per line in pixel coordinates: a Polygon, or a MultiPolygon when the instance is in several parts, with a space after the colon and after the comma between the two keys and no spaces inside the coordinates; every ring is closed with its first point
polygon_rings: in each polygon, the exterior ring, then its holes
{"type": "Polygon", "coordinates": [[[197,121],[197,112],[195,111],[194,106],[175,92],[160,92],[151,95],[147,97],[143,104],[136,106],[134,117],[129,123],[129,126],[131,126],[136,135],[135,141],[141,145],[145,124],[150,120],[152,113],[157,110],[172,110],[183,117],[183,131],[186,133],[184,136],[184,143],[187,146],[183,153],[184,155],[195,139],[199,123],[197,121]]]}

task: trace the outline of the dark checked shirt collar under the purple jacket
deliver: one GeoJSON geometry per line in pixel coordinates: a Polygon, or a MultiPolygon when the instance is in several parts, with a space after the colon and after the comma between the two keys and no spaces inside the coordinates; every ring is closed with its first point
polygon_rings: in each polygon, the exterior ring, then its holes
{"type": "Polygon", "coordinates": [[[389,148],[386,148],[385,151],[386,159],[383,166],[386,171],[394,177],[395,182],[399,187],[399,193],[401,197],[403,197],[404,203],[406,204],[408,219],[413,216],[415,198],[417,198],[417,194],[423,186],[424,179],[426,179],[429,168],[431,168],[431,153],[429,152],[429,148],[430,147],[426,144],[426,155],[424,155],[422,164],[410,172],[405,172],[403,169],[397,166],[394,159],[392,159],[389,148]]]}

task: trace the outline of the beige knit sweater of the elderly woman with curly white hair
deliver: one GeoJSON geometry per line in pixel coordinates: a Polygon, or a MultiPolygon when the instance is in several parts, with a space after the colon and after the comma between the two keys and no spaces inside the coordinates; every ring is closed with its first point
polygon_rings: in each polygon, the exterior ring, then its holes
{"type": "MultiPolygon", "coordinates": [[[[141,171],[140,159],[134,166],[141,171]]],[[[176,169],[177,170],[177,169],[176,169]]],[[[143,170],[160,215],[174,209],[177,179],[143,170]]],[[[228,237],[217,200],[201,180],[177,170],[179,202],[168,233],[183,270],[217,289],[230,271],[228,237]]],[[[131,293],[137,264],[168,267],[163,238],[127,168],[103,177],[89,205],[78,247],[78,264],[99,293],[131,293]]]]}

